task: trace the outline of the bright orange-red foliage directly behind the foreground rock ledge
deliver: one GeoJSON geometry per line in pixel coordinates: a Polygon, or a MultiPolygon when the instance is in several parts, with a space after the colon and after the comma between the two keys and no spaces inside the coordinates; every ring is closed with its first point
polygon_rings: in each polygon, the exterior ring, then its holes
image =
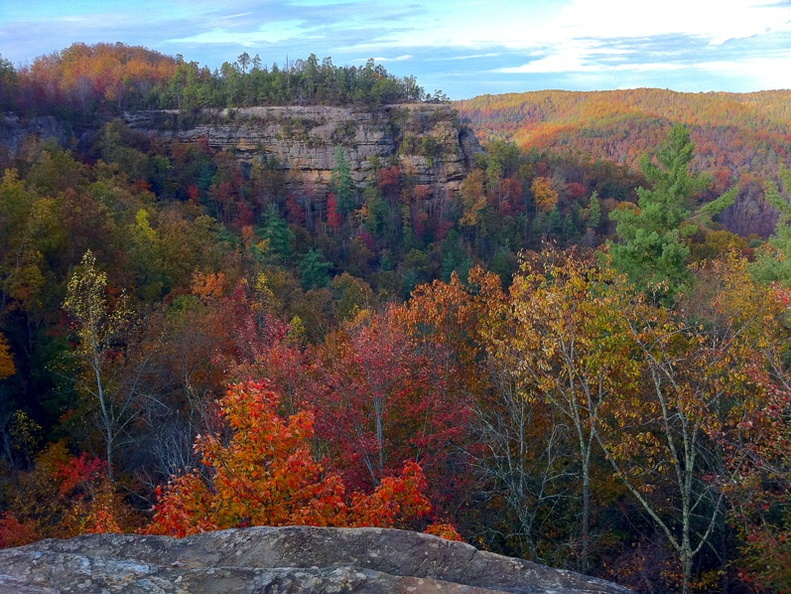
{"type": "Polygon", "coordinates": [[[408,463],[371,494],[347,492],[311,454],[313,414],[283,418],[264,382],[229,386],[221,415],[230,437],[198,436],[199,469],[160,491],[150,533],[186,536],[249,525],[407,527],[431,513],[420,466],[408,463]]]}

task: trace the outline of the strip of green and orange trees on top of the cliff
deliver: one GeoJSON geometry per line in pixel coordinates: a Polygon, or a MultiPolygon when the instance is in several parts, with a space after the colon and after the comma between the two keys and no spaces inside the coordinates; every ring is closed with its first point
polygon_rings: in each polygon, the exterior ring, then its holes
{"type": "MultiPolygon", "coordinates": [[[[444,96],[443,100],[446,99],[444,96]]],[[[80,125],[124,110],[234,108],[256,105],[383,105],[428,100],[414,77],[381,64],[335,66],[331,58],[268,68],[242,53],[212,72],[180,55],[122,43],[75,43],[17,72],[0,56],[0,108],[57,113],[80,125]],[[22,106],[20,98],[27,100],[22,106]]],[[[432,100],[434,98],[431,98],[432,100]]]]}

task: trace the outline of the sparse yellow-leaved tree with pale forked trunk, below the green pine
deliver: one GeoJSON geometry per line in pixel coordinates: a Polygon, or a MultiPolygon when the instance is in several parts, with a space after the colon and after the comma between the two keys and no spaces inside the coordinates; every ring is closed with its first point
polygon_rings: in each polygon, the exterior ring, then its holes
{"type": "Polygon", "coordinates": [[[714,280],[703,274],[699,302],[624,310],[641,381],[639,390],[614,393],[597,435],[616,476],[677,556],[678,572],[668,578],[683,592],[722,530],[726,467],[755,461],[746,449],[728,461],[723,448],[771,402],[758,370],[778,344],[776,306],[749,282],[744,262],[715,265],[714,280]]]}

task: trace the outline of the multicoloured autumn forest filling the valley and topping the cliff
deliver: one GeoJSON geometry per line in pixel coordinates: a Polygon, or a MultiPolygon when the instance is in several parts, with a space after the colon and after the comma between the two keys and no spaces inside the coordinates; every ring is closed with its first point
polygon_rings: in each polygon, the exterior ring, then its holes
{"type": "Polygon", "coordinates": [[[628,163],[491,137],[456,194],[338,158],[306,201],[115,116],[444,95],[121,44],[0,82],[97,130],[0,147],[0,546],[373,525],[636,592],[791,590],[786,153],[754,176],[768,238],[723,227],[741,187],[683,118],[628,163]]]}

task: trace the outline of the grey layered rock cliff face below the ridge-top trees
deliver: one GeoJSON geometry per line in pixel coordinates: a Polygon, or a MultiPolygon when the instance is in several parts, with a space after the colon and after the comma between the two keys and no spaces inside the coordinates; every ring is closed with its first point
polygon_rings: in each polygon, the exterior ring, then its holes
{"type": "Polygon", "coordinates": [[[436,104],[159,111],[129,114],[126,122],[152,136],[230,150],[248,164],[274,158],[299,190],[326,190],[342,147],[358,184],[366,183],[378,161],[399,164],[417,184],[455,192],[482,150],[453,109],[436,104]]]}

